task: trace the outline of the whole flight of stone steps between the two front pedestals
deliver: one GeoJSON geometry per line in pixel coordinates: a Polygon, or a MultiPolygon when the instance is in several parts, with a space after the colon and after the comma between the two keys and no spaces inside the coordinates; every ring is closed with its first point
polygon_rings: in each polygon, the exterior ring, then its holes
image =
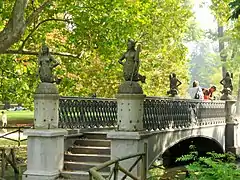
{"type": "MultiPolygon", "coordinates": [[[[88,180],[88,171],[111,159],[111,141],[106,139],[106,132],[86,132],[81,139],[65,152],[64,179],[88,180]]],[[[103,176],[109,175],[110,168],[101,171],[103,176]]]]}

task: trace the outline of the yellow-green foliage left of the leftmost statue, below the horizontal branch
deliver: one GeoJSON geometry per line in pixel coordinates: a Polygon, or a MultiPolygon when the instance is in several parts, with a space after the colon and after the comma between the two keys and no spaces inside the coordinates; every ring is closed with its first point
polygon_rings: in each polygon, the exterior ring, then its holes
{"type": "MultiPolygon", "coordinates": [[[[26,58],[26,57],[25,57],[26,58]]],[[[32,104],[32,94],[37,82],[34,80],[35,63],[24,57],[1,55],[0,66],[0,101],[32,104]]]]}

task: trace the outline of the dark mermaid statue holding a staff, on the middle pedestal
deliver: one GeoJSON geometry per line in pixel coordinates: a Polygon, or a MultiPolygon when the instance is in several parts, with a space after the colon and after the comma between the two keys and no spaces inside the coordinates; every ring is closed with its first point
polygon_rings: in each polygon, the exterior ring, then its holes
{"type": "Polygon", "coordinates": [[[139,74],[139,54],[141,52],[141,46],[138,44],[137,50],[135,50],[136,42],[132,39],[128,40],[127,52],[125,52],[119,59],[119,63],[123,65],[123,76],[125,81],[141,81],[145,83],[146,76],[139,74]],[[126,59],[125,62],[123,60],[126,59]]]}

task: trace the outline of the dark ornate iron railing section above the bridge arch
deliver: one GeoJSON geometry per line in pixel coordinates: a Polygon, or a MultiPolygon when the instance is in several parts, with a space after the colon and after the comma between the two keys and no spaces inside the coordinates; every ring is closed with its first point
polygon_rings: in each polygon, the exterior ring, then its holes
{"type": "Polygon", "coordinates": [[[144,127],[166,130],[225,123],[224,101],[170,100],[147,98],[144,103],[144,127]]]}

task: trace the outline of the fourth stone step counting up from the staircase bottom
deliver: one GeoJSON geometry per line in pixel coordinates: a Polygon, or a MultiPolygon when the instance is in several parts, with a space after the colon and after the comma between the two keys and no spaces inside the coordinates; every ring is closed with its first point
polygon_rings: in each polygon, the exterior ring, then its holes
{"type": "Polygon", "coordinates": [[[69,148],[72,154],[110,154],[110,147],[95,147],[95,146],[73,146],[69,148]]]}

